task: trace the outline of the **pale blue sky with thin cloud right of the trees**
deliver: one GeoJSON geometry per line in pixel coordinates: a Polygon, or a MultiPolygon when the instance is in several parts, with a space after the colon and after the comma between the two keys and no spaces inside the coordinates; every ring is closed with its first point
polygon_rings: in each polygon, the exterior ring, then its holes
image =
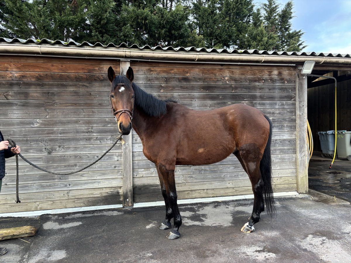
{"type": "MultiPolygon", "coordinates": [[[[265,0],[254,1],[256,5],[265,0]]],[[[277,0],[285,5],[284,0],[277,0]]],[[[351,0],[293,0],[293,29],[302,29],[302,51],[351,54],[351,0]]]]}

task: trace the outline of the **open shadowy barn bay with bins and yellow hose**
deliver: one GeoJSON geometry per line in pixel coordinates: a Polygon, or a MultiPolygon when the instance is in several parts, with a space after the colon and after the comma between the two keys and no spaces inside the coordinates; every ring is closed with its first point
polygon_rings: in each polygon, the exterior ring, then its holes
{"type": "MultiPolygon", "coordinates": [[[[335,122],[337,130],[351,131],[351,66],[317,66],[312,74],[335,77],[337,91],[335,103],[335,80],[323,77],[307,79],[307,119],[313,137],[309,189],[351,202],[351,161],[338,157],[336,153],[330,169],[335,137],[330,132],[321,133],[335,130],[335,122]]],[[[338,143],[345,141],[337,140],[338,143]]]]}

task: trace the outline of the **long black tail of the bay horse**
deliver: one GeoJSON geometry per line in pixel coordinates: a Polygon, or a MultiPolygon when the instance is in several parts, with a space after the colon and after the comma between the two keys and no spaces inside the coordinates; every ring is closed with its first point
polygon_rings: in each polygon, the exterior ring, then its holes
{"type": "Polygon", "coordinates": [[[264,115],[269,122],[269,137],[264,150],[262,160],[260,162],[261,178],[264,183],[263,198],[266,211],[269,215],[274,215],[276,209],[274,207],[273,189],[272,189],[272,161],[271,161],[271,141],[272,141],[272,122],[264,115]]]}

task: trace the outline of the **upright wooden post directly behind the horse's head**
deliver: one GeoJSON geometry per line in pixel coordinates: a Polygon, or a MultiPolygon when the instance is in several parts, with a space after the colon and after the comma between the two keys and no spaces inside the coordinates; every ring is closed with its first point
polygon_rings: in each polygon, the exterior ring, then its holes
{"type": "MultiPolygon", "coordinates": [[[[120,74],[125,75],[130,66],[129,60],[120,61],[120,74]]],[[[123,206],[133,205],[133,160],[132,160],[132,132],[123,135],[122,169],[123,169],[123,206]]]]}

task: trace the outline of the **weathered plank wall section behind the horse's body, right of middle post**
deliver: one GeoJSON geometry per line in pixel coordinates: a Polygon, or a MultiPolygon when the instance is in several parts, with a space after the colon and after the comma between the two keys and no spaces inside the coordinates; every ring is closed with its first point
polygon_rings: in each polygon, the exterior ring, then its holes
{"type": "MultiPolygon", "coordinates": [[[[159,99],[172,97],[196,110],[245,103],[273,122],[272,168],[275,192],[296,191],[296,69],[133,62],[134,81],[159,99]]],[[[208,138],[216,140],[216,138],[208,138]]],[[[133,131],[134,202],[163,201],[154,164],[143,155],[133,131]]],[[[249,177],[236,157],[206,166],[177,166],[179,199],[252,194],[249,177]]]]}

